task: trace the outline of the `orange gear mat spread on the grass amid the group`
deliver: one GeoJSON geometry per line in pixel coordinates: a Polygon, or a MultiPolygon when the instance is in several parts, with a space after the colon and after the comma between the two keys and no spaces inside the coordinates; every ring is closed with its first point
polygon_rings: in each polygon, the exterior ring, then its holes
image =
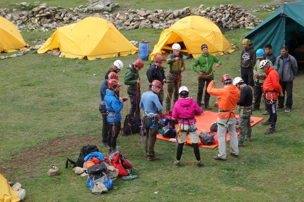
{"type": "MultiPolygon", "coordinates": [[[[213,112],[213,111],[204,111],[204,115],[200,115],[195,117],[196,119],[196,126],[197,126],[197,131],[198,134],[200,134],[202,131],[206,131],[209,132],[210,131],[210,126],[214,123],[217,122],[217,113],[213,112]]],[[[236,118],[239,118],[240,116],[236,115],[236,118]]],[[[258,123],[259,121],[263,120],[264,118],[262,117],[250,117],[250,119],[253,119],[254,122],[251,123],[251,126],[254,126],[254,124],[258,123]]],[[[175,128],[178,128],[178,124],[175,125],[175,128]]],[[[237,135],[239,135],[240,133],[237,131],[237,135]]],[[[156,137],[158,139],[162,139],[162,140],[166,140],[166,141],[171,141],[171,142],[176,142],[175,138],[165,138],[160,134],[157,134],[156,137]]],[[[227,132],[227,141],[230,140],[229,134],[227,132]]],[[[199,145],[199,147],[205,147],[205,148],[215,148],[219,145],[219,143],[213,143],[213,145],[199,145]]]]}

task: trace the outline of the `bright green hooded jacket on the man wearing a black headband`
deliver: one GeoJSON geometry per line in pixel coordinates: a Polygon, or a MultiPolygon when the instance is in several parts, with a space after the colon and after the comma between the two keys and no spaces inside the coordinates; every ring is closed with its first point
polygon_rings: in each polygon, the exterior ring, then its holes
{"type": "MultiPolygon", "coordinates": [[[[196,58],[194,64],[192,65],[192,69],[199,73],[200,71],[209,74],[213,68],[213,63],[218,63],[219,65],[222,65],[222,61],[215,57],[214,55],[211,55],[209,52],[207,54],[202,53],[198,58],[196,58]],[[199,65],[199,68],[197,68],[197,65],[199,65]]],[[[213,72],[211,75],[208,76],[208,78],[213,77],[213,72]]],[[[206,75],[201,76],[200,78],[207,78],[206,75]]]]}

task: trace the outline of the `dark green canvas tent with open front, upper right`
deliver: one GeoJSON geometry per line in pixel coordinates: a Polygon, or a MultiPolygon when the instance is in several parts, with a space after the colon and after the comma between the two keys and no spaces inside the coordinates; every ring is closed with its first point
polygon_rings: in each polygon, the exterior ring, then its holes
{"type": "Polygon", "coordinates": [[[244,38],[254,43],[254,49],[272,45],[275,56],[287,45],[290,55],[304,61],[304,1],[284,3],[278,10],[251,30],[244,38]]]}

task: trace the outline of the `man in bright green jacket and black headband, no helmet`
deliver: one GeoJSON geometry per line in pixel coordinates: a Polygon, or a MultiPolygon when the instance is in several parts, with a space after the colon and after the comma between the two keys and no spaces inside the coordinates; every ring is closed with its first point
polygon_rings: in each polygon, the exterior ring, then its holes
{"type": "MultiPolygon", "coordinates": [[[[200,55],[198,58],[196,58],[194,64],[192,65],[192,69],[199,74],[199,92],[197,93],[197,104],[199,104],[199,107],[202,105],[202,96],[204,91],[204,86],[206,82],[206,87],[209,85],[210,81],[213,79],[213,63],[217,63],[215,67],[219,67],[219,65],[222,65],[222,61],[215,57],[214,55],[211,55],[208,52],[208,46],[206,44],[202,45],[202,55],[200,55]],[[197,65],[199,65],[199,68],[197,68],[197,65]]],[[[210,94],[207,92],[207,88],[205,90],[205,97],[204,97],[204,104],[206,109],[211,109],[209,106],[209,99],[210,94]]]]}

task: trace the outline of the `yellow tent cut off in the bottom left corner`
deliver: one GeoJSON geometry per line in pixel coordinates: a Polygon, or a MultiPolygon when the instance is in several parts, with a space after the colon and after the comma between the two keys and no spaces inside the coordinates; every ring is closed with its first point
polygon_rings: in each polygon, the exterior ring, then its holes
{"type": "Polygon", "coordinates": [[[18,191],[12,190],[5,177],[0,173],[0,201],[1,202],[17,202],[18,191]]]}

